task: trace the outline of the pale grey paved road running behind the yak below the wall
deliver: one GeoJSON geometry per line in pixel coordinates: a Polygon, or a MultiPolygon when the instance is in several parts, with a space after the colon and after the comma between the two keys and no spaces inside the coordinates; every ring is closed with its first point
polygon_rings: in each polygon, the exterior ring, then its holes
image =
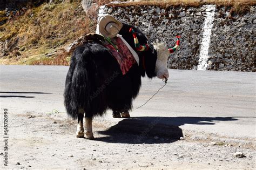
{"type": "MultiPolygon", "coordinates": [[[[64,112],[67,66],[1,65],[1,108],[9,112],[64,112]]],[[[252,72],[170,70],[164,89],[132,117],[175,125],[195,139],[255,140],[255,85],[252,72]]],[[[143,78],[134,108],[142,105],[164,82],[143,78]]],[[[3,110],[3,109],[2,109],[3,110]]],[[[65,115],[65,114],[63,114],[65,115]]],[[[111,112],[104,119],[113,119],[111,112]]]]}

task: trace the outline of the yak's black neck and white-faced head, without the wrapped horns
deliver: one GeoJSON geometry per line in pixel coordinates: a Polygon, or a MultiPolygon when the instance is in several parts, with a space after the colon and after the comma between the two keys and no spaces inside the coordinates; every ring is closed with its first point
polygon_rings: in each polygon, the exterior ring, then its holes
{"type": "Polygon", "coordinates": [[[139,68],[142,76],[152,78],[157,76],[158,78],[164,79],[169,77],[167,70],[167,59],[169,57],[169,51],[163,43],[152,43],[147,40],[146,36],[139,29],[134,26],[123,23],[123,28],[119,31],[119,34],[133,47],[139,56],[139,68]],[[129,29],[133,30],[137,34],[137,38],[140,44],[148,44],[149,49],[147,51],[138,52],[134,45],[132,33],[129,29]]]}

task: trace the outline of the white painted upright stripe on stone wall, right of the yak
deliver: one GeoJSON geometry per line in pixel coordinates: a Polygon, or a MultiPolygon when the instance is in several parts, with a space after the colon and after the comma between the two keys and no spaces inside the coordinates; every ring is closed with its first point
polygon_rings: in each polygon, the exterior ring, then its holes
{"type": "Polygon", "coordinates": [[[198,60],[197,70],[207,70],[209,65],[208,60],[208,50],[211,41],[211,31],[213,26],[213,20],[215,15],[215,5],[204,5],[206,9],[206,18],[203,27],[203,39],[201,43],[200,55],[198,60]]]}

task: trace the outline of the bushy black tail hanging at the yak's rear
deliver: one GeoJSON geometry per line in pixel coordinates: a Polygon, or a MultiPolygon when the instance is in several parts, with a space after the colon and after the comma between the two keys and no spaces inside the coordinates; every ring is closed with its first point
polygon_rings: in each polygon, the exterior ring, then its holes
{"type": "Polygon", "coordinates": [[[88,96],[88,73],[84,60],[86,52],[79,50],[73,53],[70,67],[66,76],[64,90],[64,105],[70,117],[77,119],[79,113],[84,112],[85,102],[88,96]]]}

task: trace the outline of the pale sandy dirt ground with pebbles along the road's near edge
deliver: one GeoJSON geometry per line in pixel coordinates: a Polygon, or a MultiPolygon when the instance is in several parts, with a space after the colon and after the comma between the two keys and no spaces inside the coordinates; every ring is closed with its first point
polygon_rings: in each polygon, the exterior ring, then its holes
{"type": "Polygon", "coordinates": [[[255,169],[254,146],[174,139],[177,137],[156,135],[154,127],[136,133],[138,124],[127,129],[122,126],[126,119],[116,125],[96,119],[96,139],[88,140],[75,137],[77,123],[65,113],[10,113],[10,117],[8,167],[1,158],[2,168],[255,169]],[[236,158],[235,152],[246,157],[236,158]]]}

